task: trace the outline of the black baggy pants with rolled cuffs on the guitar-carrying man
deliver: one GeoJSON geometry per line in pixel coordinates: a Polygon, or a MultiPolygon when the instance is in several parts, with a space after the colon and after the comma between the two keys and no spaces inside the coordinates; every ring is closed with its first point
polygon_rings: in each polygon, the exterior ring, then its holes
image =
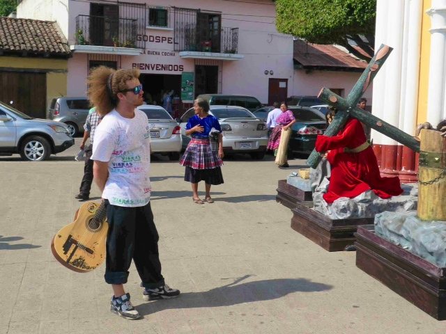
{"type": "Polygon", "coordinates": [[[147,288],[164,285],[158,253],[158,232],[151,203],[144,207],[107,205],[107,258],[105,282],[125,284],[132,260],[147,288]]]}

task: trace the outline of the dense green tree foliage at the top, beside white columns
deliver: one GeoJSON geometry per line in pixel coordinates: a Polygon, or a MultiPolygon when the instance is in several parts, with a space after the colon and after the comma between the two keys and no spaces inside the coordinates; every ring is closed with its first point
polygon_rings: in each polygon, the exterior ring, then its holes
{"type": "Polygon", "coordinates": [[[376,0],[277,0],[277,30],[318,44],[374,35],[376,0]]]}

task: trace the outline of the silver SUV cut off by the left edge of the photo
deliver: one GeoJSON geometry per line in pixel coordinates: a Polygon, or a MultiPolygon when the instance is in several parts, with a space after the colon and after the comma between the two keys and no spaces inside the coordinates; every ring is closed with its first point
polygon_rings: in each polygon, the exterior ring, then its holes
{"type": "Polygon", "coordinates": [[[18,153],[24,160],[42,161],[74,144],[65,124],[29,117],[0,102],[0,155],[18,153]]]}

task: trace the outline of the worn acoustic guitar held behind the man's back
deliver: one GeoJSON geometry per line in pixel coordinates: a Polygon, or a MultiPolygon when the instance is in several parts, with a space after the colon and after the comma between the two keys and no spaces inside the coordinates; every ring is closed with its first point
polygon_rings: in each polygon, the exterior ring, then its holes
{"type": "Polygon", "coordinates": [[[75,221],[56,233],[51,250],[56,260],[78,273],[92,271],[105,260],[105,241],[109,225],[105,202],[85,202],[75,221]]]}

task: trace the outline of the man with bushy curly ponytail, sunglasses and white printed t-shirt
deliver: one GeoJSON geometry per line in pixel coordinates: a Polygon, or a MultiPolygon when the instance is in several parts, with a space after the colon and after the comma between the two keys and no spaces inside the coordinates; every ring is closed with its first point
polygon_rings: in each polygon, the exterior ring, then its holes
{"type": "Polygon", "coordinates": [[[158,232],[151,209],[150,129],[143,111],[139,72],[95,68],[89,75],[89,97],[102,121],[93,142],[93,175],[107,204],[105,282],[114,296],[110,310],[127,319],[139,312],[125,293],[132,260],[142,280],[144,300],[180,294],[164,283],[158,252],[158,232]]]}

